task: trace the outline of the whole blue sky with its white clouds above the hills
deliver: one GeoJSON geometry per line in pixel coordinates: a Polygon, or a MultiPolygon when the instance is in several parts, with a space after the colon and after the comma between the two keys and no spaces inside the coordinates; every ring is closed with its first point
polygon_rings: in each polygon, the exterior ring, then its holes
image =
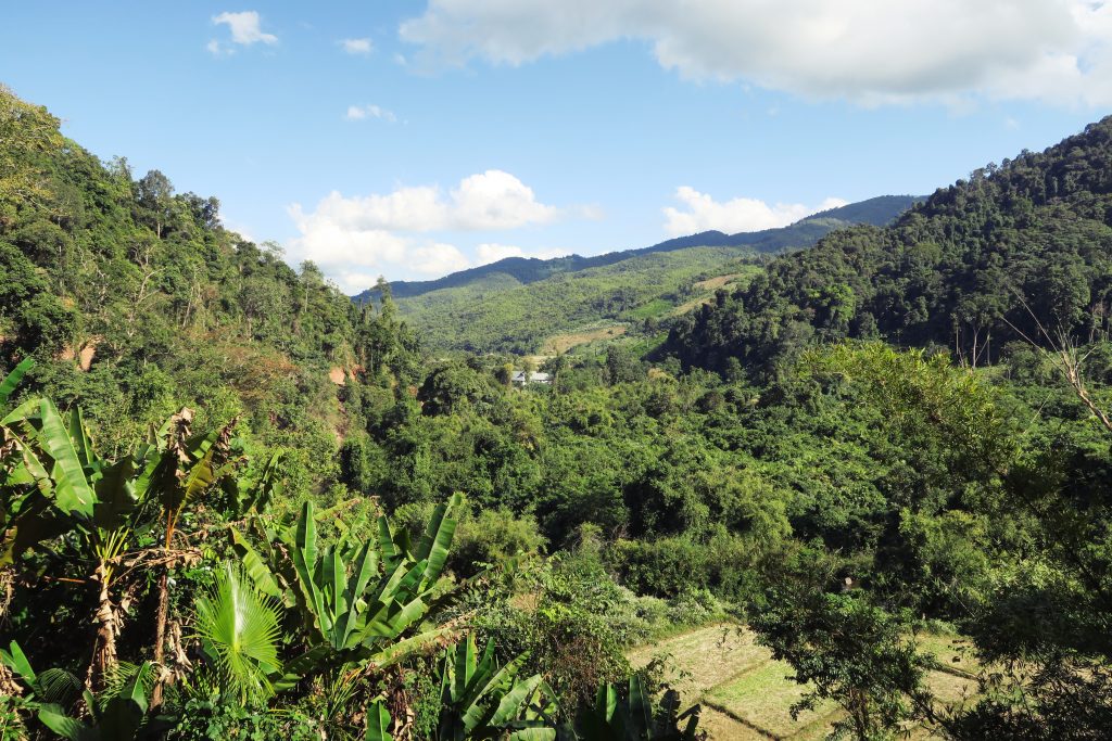
{"type": "Polygon", "coordinates": [[[1112,108],[1093,0],[0,11],[0,81],[351,292],[926,193],[1112,108]]]}

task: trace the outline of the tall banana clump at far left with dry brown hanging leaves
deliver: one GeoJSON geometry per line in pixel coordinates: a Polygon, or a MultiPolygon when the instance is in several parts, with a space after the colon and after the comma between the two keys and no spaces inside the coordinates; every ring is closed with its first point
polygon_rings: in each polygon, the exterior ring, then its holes
{"type": "MultiPolygon", "coordinates": [[[[0,383],[4,399],[10,381],[0,383]]],[[[87,567],[83,577],[99,588],[88,678],[93,685],[116,662],[120,614],[111,584],[117,565],[136,554],[132,543],[152,528],[162,530],[163,547],[171,550],[183,509],[242,460],[232,445],[237,420],[199,435],[191,433],[191,421],[192,412],[182,409],[132,454],[106,461],[97,455],[78,408],[66,419],[49,399],[31,399],[0,419],[0,567],[46,549],[59,535],[75,535],[64,541],[64,558],[87,567]]],[[[265,472],[264,482],[269,478],[265,472]]],[[[163,657],[168,570],[163,565],[158,584],[156,663],[163,657]]],[[[160,697],[157,685],[155,704],[160,697]]]]}

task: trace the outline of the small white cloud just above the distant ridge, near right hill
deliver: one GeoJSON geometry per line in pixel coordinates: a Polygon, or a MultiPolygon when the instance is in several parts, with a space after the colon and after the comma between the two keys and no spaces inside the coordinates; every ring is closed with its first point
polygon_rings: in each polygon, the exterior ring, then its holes
{"type": "Polygon", "coordinates": [[[736,234],[743,231],[775,229],[786,227],[812,213],[846,204],[846,201],[840,198],[827,198],[814,208],[802,203],[770,206],[753,198],[734,198],[718,202],[688,186],[676,189],[676,200],[684,204],[684,210],[664,208],[666,219],[664,229],[672,237],[711,230],[736,234]]]}

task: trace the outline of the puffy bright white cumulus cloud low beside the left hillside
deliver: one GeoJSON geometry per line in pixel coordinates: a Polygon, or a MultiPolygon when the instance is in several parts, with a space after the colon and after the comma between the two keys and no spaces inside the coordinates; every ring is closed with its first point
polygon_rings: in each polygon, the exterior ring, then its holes
{"type": "MultiPolygon", "coordinates": [[[[311,211],[300,203],[287,211],[298,231],[289,244],[291,256],[317,262],[353,292],[367,288],[366,277],[376,270],[435,276],[470,264],[457,247],[431,239],[429,232],[509,230],[548,223],[562,213],[537,201],[532,188],[502,170],[464,178],[447,192],[436,186],[355,197],[332,191],[311,211]]],[[[481,262],[514,253],[526,252],[499,244],[477,250],[481,262]]]]}

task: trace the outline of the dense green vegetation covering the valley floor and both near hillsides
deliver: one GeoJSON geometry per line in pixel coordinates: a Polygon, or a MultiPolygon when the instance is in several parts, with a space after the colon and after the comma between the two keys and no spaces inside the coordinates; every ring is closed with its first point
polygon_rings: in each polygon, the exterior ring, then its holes
{"type": "Polygon", "coordinates": [[[0,92],[0,738],[1106,738],[1110,134],[515,385],[0,92]]]}

